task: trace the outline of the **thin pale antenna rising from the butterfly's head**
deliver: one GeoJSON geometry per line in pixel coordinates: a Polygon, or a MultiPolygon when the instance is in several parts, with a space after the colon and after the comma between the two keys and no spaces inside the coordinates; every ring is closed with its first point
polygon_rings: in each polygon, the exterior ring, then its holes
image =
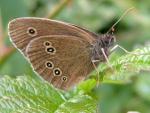
{"type": "Polygon", "coordinates": [[[114,32],[114,27],[115,27],[130,11],[132,11],[133,9],[135,9],[135,7],[131,7],[131,8],[129,8],[129,9],[127,9],[127,10],[121,15],[121,17],[117,20],[117,22],[115,22],[115,23],[112,25],[112,27],[107,31],[107,34],[108,34],[110,31],[114,32]]]}

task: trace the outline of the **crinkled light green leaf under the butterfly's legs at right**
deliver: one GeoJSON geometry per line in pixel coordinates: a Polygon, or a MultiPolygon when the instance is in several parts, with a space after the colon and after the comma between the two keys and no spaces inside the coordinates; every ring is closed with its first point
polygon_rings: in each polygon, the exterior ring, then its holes
{"type": "Polygon", "coordinates": [[[112,69],[106,65],[101,67],[103,82],[128,82],[131,76],[141,71],[150,71],[150,47],[136,49],[130,54],[114,59],[111,64],[112,69]]]}

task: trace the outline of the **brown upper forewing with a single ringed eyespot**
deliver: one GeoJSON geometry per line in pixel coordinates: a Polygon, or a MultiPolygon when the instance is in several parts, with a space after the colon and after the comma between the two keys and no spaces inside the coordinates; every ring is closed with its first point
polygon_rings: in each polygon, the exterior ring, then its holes
{"type": "Polygon", "coordinates": [[[80,37],[89,43],[95,39],[87,31],[71,24],[42,18],[18,18],[9,23],[9,35],[17,48],[25,55],[29,42],[45,35],[69,35],[80,37]]]}

